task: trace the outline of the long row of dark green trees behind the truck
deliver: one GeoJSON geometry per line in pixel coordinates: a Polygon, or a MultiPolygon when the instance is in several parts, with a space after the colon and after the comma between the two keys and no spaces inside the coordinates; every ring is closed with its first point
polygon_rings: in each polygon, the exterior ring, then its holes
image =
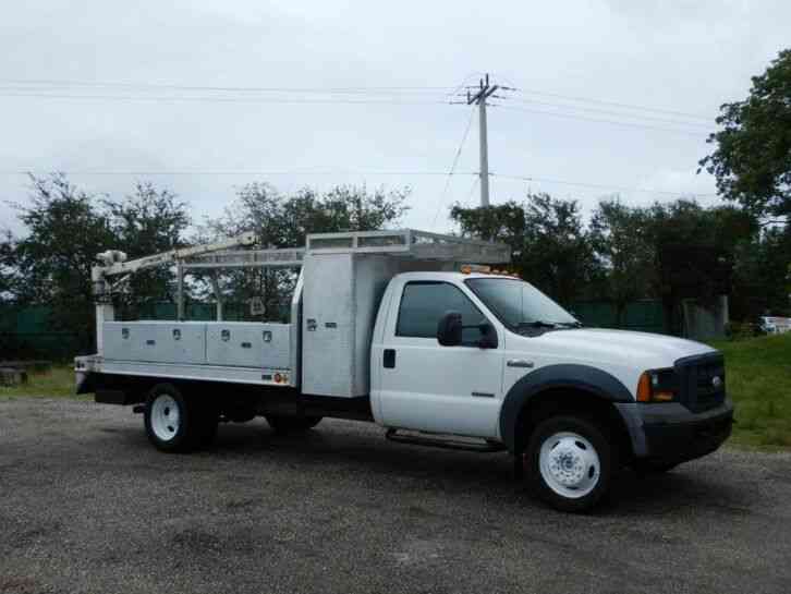
{"type": "MultiPolygon", "coordinates": [[[[281,194],[271,185],[243,186],[221,217],[193,225],[186,203],[151,183],[123,198],[94,196],[60,174],[32,179],[32,195],[17,205],[25,228],[0,243],[0,295],[14,304],[47,304],[53,327],[93,337],[90,268],[96,254],[121,250],[130,258],[254,231],[264,247],[304,245],[311,232],[393,227],[406,211],[409,189],[368,191],[338,186],[281,194]]],[[[661,300],[668,331],[680,330],[684,299],[714,306],[730,296],[731,317],[751,319],[789,310],[791,232],[762,226],[737,205],[704,207],[692,199],[629,206],[601,201],[587,220],[580,203],[528,194],[487,208],[452,207],[463,235],[511,246],[510,268],[562,304],[661,300]]],[[[295,280],[290,270],[236,270],[220,279],[223,299],[261,296],[267,312],[284,312],[295,280]]],[[[196,277],[190,299],[212,300],[196,277]]],[[[167,267],[131,277],[121,311],[135,317],[147,303],[172,302],[175,279],[167,267]]]]}

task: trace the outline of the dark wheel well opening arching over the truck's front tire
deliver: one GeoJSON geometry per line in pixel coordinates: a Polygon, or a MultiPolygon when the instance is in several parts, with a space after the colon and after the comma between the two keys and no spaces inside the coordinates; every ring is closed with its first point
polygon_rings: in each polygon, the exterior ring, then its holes
{"type": "Polygon", "coordinates": [[[516,419],[514,451],[524,451],[530,435],[541,421],[564,413],[585,416],[604,428],[622,462],[633,457],[629,431],[612,402],[594,392],[569,388],[549,388],[530,398],[516,419]]]}

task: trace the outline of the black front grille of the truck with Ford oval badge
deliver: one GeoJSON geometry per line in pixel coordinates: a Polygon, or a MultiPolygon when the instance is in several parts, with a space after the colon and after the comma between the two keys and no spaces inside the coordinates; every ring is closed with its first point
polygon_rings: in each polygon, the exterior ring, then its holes
{"type": "Polygon", "coordinates": [[[693,412],[719,407],[726,398],[725,360],[719,353],[676,362],[681,403],[693,412]]]}

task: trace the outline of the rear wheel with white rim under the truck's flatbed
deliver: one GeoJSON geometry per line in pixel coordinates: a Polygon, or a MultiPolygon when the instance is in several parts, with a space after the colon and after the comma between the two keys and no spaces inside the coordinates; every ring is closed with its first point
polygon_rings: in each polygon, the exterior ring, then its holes
{"type": "Polygon", "coordinates": [[[146,435],[160,451],[186,452],[207,445],[217,434],[217,413],[185,398],[172,384],[158,384],[146,400],[146,435]]]}

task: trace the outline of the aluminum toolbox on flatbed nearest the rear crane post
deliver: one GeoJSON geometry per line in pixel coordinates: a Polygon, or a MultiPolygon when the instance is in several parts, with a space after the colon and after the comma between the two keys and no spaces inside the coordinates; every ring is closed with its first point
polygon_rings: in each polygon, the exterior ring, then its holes
{"type": "Polygon", "coordinates": [[[150,363],[206,363],[203,322],[106,322],[105,359],[150,363]]]}

